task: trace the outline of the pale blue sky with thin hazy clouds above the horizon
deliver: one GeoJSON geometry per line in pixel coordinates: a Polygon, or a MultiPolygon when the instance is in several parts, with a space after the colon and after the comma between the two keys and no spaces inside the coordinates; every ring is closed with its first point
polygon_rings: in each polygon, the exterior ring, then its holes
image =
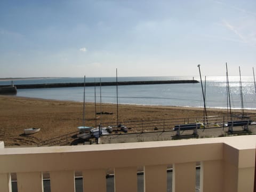
{"type": "Polygon", "coordinates": [[[256,1],[0,1],[0,78],[252,75],[256,1]]]}

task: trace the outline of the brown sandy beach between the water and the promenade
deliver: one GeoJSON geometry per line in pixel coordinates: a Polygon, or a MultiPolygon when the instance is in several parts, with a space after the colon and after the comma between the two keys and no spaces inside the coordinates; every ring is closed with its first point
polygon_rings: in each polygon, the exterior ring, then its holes
{"type": "MultiPolygon", "coordinates": [[[[95,105],[85,105],[85,125],[95,126],[95,105]]],[[[97,111],[100,104],[97,103],[97,111]]],[[[113,114],[97,115],[97,124],[116,122],[114,104],[102,104],[101,111],[113,114]]],[[[237,111],[239,113],[240,111],[237,111]]],[[[255,115],[255,110],[246,111],[255,115]]],[[[208,116],[226,115],[227,110],[207,109],[208,116]]],[[[203,108],[118,105],[119,121],[202,117],[203,108]]],[[[83,122],[83,103],[0,95],[0,141],[5,146],[31,146],[59,135],[77,131],[83,122]],[[41,131],[26,136],[23,130],[39,127],[41,131]]]]}

